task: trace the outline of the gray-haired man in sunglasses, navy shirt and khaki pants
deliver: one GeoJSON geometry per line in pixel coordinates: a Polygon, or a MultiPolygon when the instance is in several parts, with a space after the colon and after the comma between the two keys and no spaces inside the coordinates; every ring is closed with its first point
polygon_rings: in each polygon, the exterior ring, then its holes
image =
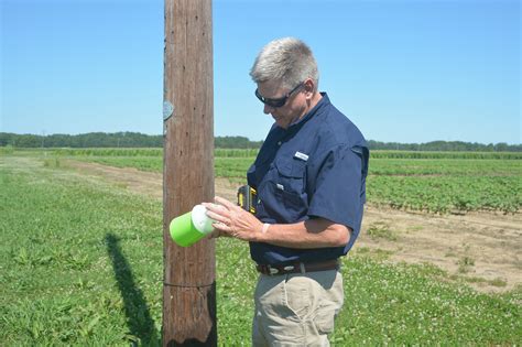
{"type": "Polygon", "coordinates": [[[217,235],[250,242],[260,272],[254,346],[328,346],[344,302],[339,257],[354,245],[366,200],[369,150],[360,131],[319,93],[309,47],[270,42],[250,72],[275,120],[247,173],[255,215],[216,197],[217,235]],[[225,207],[225,208],[224,208],[225,207]]]}

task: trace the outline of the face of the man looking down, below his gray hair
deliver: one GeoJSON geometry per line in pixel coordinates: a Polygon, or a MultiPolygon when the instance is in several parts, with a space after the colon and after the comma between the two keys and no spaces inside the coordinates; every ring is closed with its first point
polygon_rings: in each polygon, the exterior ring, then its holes
{"type": "MultiPolygon", "coordinates": [[[[292,89],[283,88],[279,82],[263,82],[258,84],[258,93],[265,99],[279,99],[289,95],[292,89]]],[[[272,107],[264,104],[263,112],[271,115],[279,127],[287,129],[289,126],[303,117],[307,111],[306,98],[302,88],[292,93],[286,102],[281,107],[272,107]]]]}

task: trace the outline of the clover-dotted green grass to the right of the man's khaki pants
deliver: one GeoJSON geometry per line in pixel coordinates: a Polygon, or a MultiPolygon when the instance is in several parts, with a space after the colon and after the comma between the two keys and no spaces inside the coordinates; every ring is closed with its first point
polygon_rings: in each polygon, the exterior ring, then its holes
{"type": "Polygon", "coordinates": [[[520,345],[521,292],[479,294],[437,281],[432,265],[345,264],[345,310],[334,340],[355,345],[520,345]]]}

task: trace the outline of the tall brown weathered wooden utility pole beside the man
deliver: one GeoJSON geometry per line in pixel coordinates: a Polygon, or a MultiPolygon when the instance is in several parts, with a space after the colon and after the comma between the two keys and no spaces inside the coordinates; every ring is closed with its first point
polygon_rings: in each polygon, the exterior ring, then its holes
{"type": "Polygon", "coordinates": [[[176,246],[174,217],[214,199],[211,0],[165,0],[163,346],[216,346],[215,241],[176,246]]]}

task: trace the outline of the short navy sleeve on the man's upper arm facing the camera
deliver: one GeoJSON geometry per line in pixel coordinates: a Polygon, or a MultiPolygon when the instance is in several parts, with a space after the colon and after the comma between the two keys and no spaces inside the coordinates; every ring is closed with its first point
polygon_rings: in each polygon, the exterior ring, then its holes
{"type": "Polygon", "coordinates": [[[323,156],[308,216],[322,217],[358,231],[365,204],[368,151],[347,144],[323,156]]]}

